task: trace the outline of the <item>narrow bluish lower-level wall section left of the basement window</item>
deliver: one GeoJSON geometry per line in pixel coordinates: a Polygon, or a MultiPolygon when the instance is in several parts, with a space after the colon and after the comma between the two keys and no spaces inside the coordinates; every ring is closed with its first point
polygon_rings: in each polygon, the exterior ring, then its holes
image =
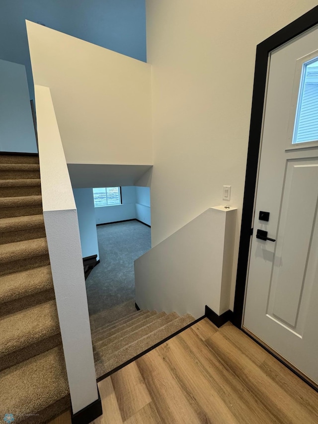
{"type": "Polygon", "coordinates": [[[99,259],[94,197],[92,188],[73,189],[79,218],[79,236],[82,257],[97,254],[99,259]]]}

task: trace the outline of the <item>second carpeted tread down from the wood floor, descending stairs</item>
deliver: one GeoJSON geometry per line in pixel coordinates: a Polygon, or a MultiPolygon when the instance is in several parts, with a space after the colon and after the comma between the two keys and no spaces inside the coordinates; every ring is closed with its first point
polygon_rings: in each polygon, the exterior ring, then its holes
{"type": "Polygon", "coordinates": [[[115,335],[112,338],[111,342],[107,342],[107,340],[102,340],[93,346],[94,357],[98,358],[100,356],[113,355],[116,352],[118,352],[118,350],[122,349],[124,346],[127,346],[128,344],[131,344],[134,341],[139,340],[155,332],[156,330],[159,330],[160,328],[164,327],[166,324],[178,318],[179,318],[178,314],[175,312],[172,312],[171,314],[160,317],[158,320],[155,320],[152,323],[147,324],[124,337],[121,337],[119,333],[118,335],[115,335]]]}

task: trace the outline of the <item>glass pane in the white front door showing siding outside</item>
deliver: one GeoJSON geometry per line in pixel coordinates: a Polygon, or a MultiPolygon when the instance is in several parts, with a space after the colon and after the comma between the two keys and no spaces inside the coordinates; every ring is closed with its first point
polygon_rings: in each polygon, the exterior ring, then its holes
{"type": "Polygon", "coordinates": [[[293,144],[318,140],[318,58],[304,63],[298,94],[293,144]]]}

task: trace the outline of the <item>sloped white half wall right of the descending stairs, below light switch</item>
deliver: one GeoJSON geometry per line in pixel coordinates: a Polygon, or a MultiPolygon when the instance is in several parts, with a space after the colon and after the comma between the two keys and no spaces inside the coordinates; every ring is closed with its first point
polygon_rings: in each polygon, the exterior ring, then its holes
{"type": "Polygon", "coordinates": [[[135,260],[141,309],[221,315],[230,308],[237,210],[209,208],[135,260]]]}

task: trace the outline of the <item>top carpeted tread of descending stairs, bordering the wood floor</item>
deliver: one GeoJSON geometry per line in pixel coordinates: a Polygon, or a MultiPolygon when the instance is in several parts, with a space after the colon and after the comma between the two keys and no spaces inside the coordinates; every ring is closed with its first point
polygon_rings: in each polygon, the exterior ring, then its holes
{"type": "Polygon", "coordinates": [[[183,315],[182,317],[178,317],[177,319],[148,334],[147,336],[144,336],[143,338],[126,345],[122,349],[118,350],[115,354],[102,356],[95,363],[96,378],[132,359],[134,356],[137,356],[146,349],[154,346],[156,343],[159,343],[159,341],[171,336],[173,333],[181,330],[183,327],[187,326],[193,321],[194,318],[192,315],[183,315]]]}

